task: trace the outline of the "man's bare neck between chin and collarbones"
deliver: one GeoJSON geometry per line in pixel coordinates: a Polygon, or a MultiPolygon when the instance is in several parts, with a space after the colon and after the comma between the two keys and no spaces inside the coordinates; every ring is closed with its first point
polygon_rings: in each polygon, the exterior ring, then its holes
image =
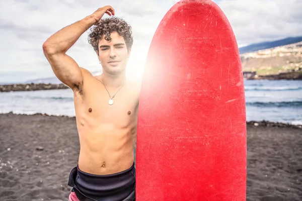
{"type": "Polygon", "coordinates": [[[103,74],[101,75],[101,78],[107,88],[117,88],[117,87],[120,87],[124,83],[124,81],[126,79],[126,73],[121,72],[119,74],[109,74],[109,73],[103,72],[103,74]]]}

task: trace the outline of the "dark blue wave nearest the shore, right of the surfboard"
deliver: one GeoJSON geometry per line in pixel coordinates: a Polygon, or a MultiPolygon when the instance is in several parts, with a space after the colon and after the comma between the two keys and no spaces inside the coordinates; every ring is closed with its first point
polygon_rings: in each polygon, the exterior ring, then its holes
{"type": "Polygon", "coordinates": [[[261,108],[302,108],[301,101],[289,102],[247,102],[246,106],[261,107],[261,108]]]}

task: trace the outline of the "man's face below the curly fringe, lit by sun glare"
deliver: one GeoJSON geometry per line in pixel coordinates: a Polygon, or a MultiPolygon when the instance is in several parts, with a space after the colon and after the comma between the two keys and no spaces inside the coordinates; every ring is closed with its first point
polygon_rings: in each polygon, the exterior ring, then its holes
{"type": "Polygon", "coordinates": [[[127,50],[125,40],[117,32],[112,32],[111,41],[106,41],[105,36],[99,41],[99,60],[105,71],[117,74],[125,70],[130,50],[127,50]]]}

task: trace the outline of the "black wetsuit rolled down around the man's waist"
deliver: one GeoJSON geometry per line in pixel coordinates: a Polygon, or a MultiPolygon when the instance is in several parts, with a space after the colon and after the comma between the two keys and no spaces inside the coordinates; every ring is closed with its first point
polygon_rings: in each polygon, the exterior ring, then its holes
{"type": "Polygon", "coordinates": [[[135,167],[124,171],[96,175],[74,167],[68,180],[80,201],[133,201],[135,200],[135,167]]]}

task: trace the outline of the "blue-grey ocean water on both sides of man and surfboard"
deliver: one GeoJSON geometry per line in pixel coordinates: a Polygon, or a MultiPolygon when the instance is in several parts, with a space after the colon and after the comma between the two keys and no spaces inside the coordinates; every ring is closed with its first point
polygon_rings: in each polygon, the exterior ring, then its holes
{"type": "MultiPolygon", "coordinates": [[[[302,125],[302,80],[246,80],[247,121],[302,125]]],[[[0,93],[0,113],[75,116],[70,89],[0,93]]]]}

